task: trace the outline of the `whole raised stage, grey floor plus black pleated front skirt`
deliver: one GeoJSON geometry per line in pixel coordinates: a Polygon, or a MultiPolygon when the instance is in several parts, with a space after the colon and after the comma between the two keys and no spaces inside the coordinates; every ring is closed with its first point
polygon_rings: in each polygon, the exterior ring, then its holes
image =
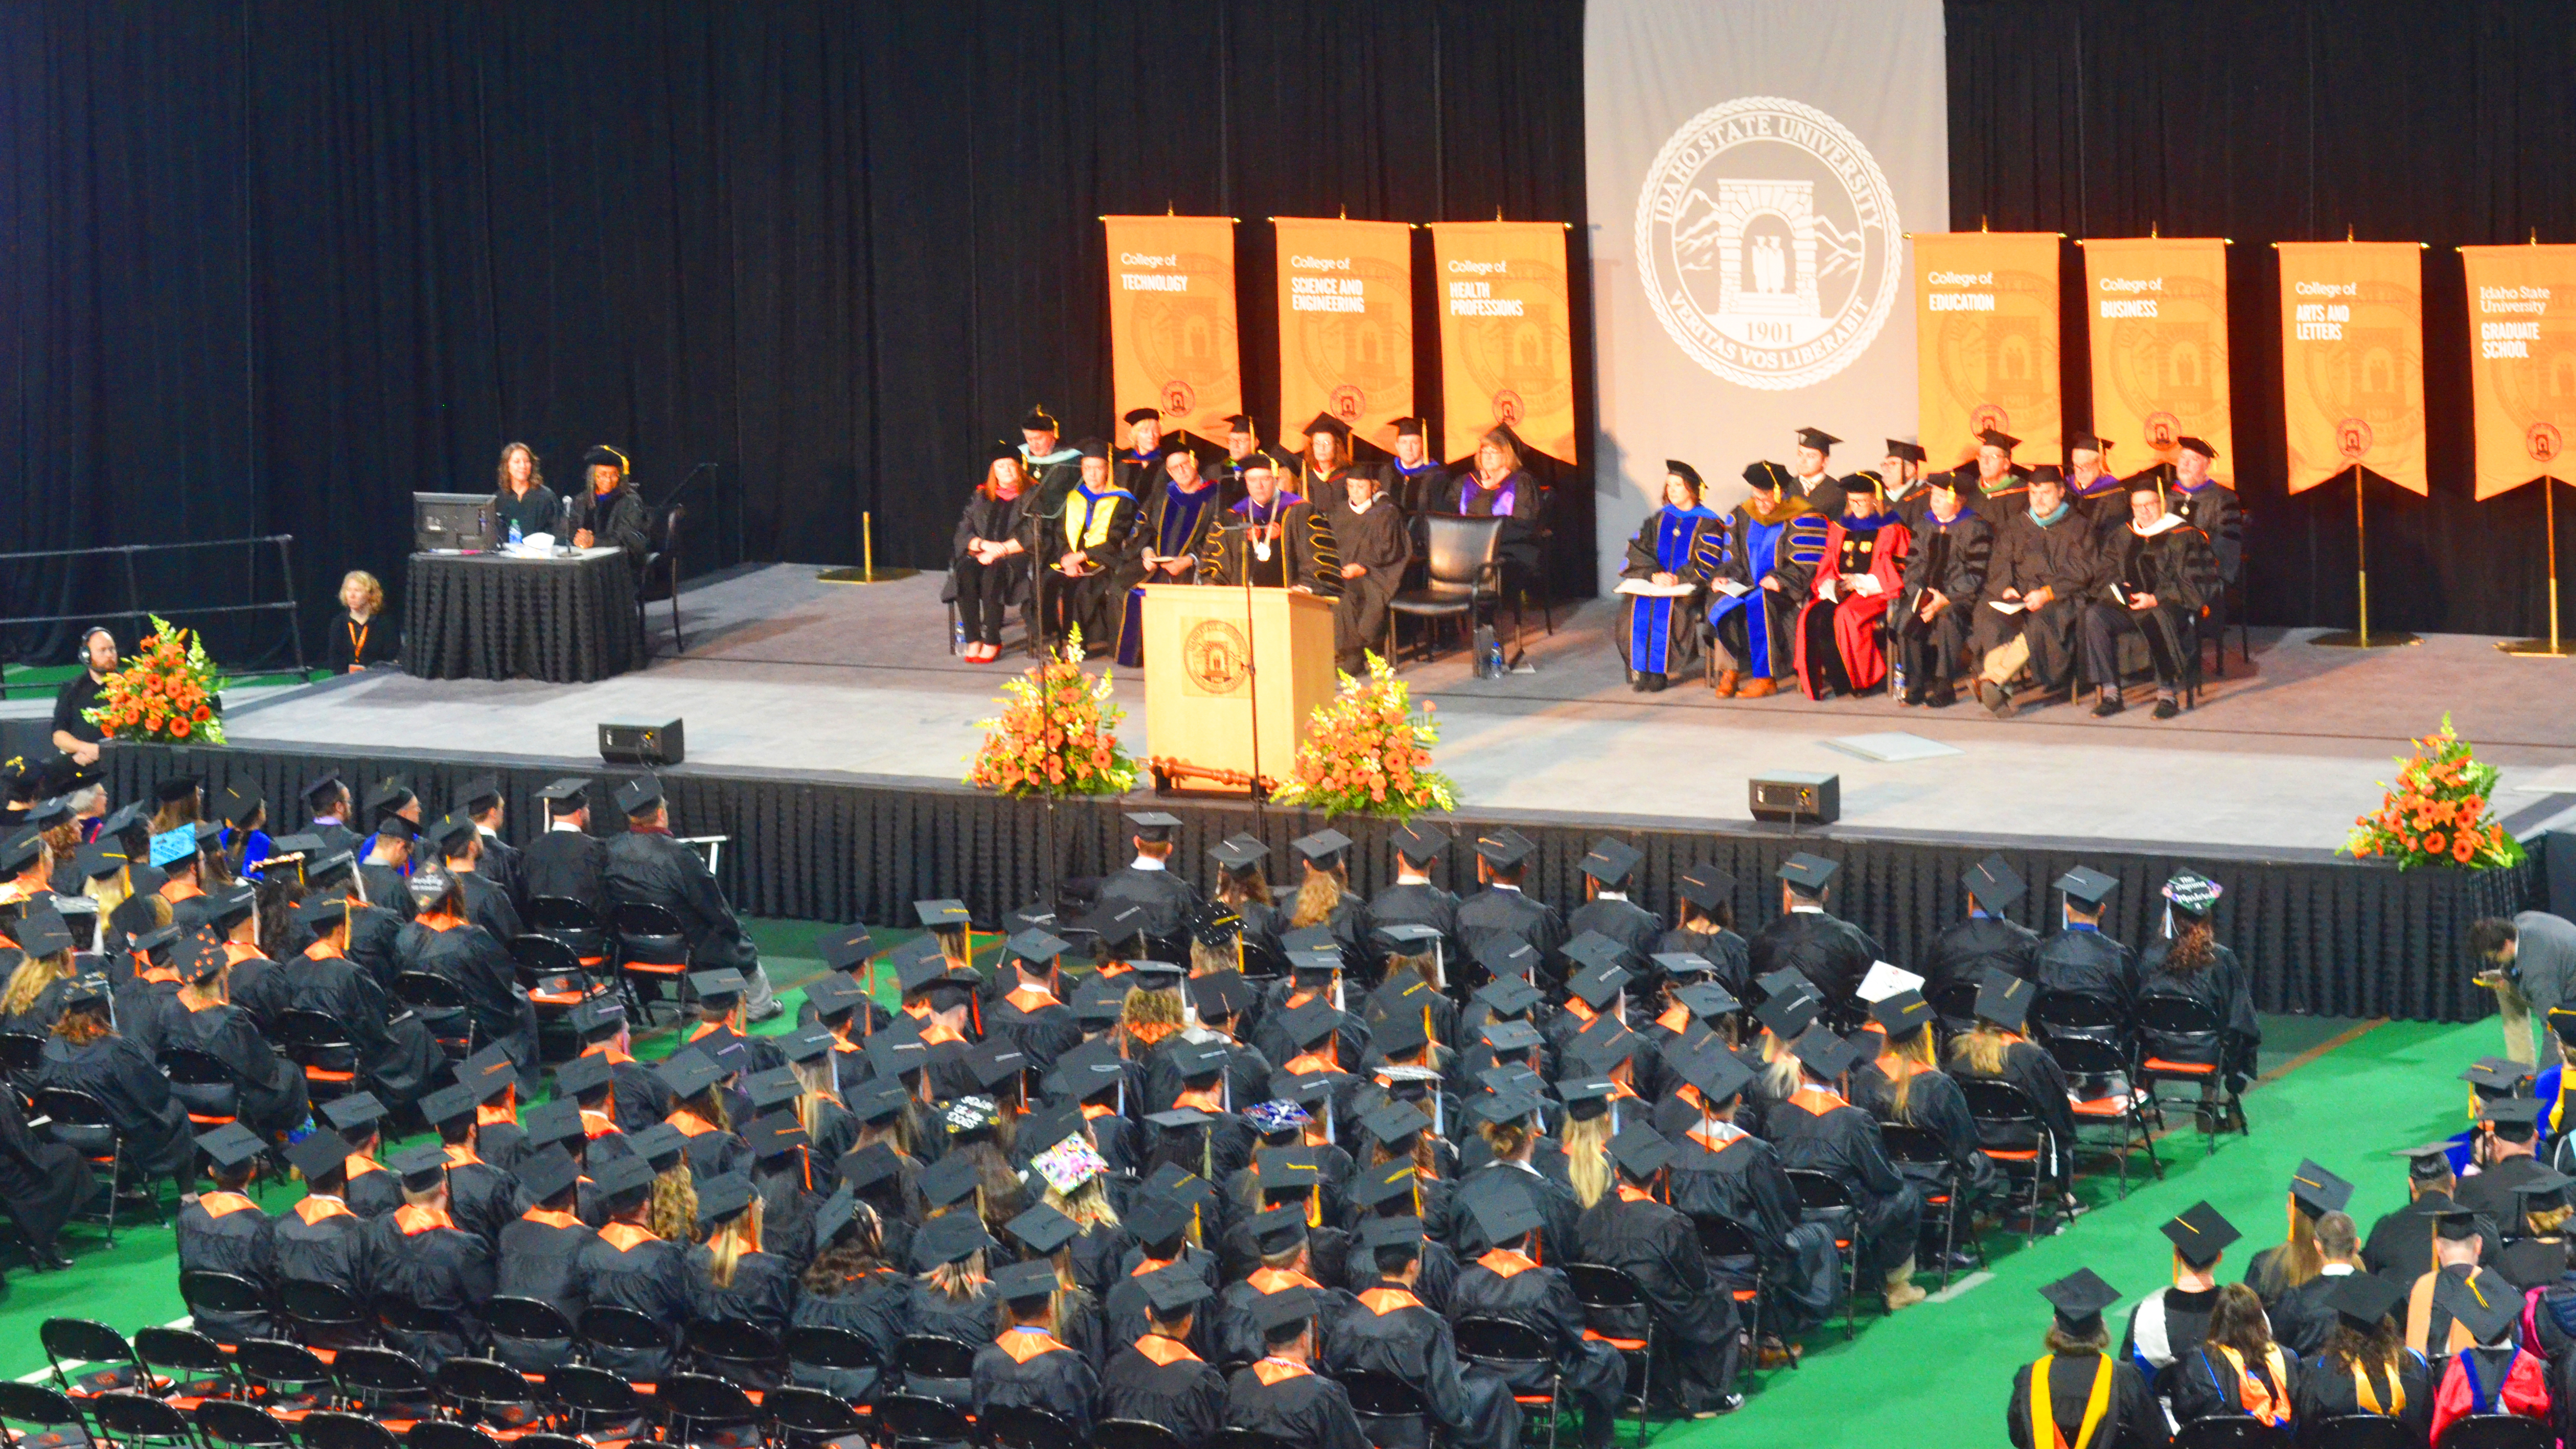
{"type": "MultiPolygon", "coordinates": [[[[997,918],[1054,879],[1115,864],[1110,807],[1048,812],[956,784],[974,722],[1025,655],[994,665],[948,655],[940,575],[884,585],[814,575],[773,565],[696,583],[680,596],[688,652],[672,655],[667,606],[654,606],[654,660],[621,678],[335,678],[237,699],[229,750],[180,753],[216,781],[247,771],[270,802],[317,761],[402,771],[430,781],[433,799],[435,781],[505,766],[526,828],[528,792],[546,779],[613,773],[595,753],[598,722],[677,717],[688,724],[688,763],[667,771],[677,825],[742,841],[726,877],[747,910],[894,920],[909,900],[963,895],[979,918],[997,918]]],[[[1473,678],[1463,652],[1404,665],[1414,696],[1437,712],[1437,766],[1458,781],[1458,822],[1510,820],[1540,838],[1533,884],[1558,900],[1579,900],[1571,864],[1600,830],[1633,833],[1649,851],[1643,895],[1656,905],[1669,905],[1669,871],[1692,861],[1767,871],[1795,846],[1785,828],[1749,820],[1747,776],[1837,771],[1842,822],[1806,830],[1803,843],[1855,866],[1844,897],[1883,926],[1899,962],[1955,918],[1958,869],[1989,848],[2035,879],[2079,859],[2120,874],[2115,923],[2130,941],[2148,928],[2154,884],[2192,861],[2231,884],[2223,923],[2241,918],[2233,938],[2267,1011],[2463,1018],[2486,998],[2465,987],[2460,928],[2522,908],[2540,874],[2365,866],[2334,856],[2344,828],[2378,804],[2391,755],[2445,709],[2504,768],[2496,807],[2519,835],[2576,817],[2576,727],[2563,709],[2576,665],[2506,657],[2478,637],[2354,652],[2313,647],[2303,629],[2254,632],[2251,665],[2231,637],[2228,676],[2210,681],[2197,709],[2154,722],[2133,706],[2102,722],[2063,704],[1994,719],[1976,704],[1899,709],[1886,696],[1721,701],[1695,681],[1641,696],[1620,678],[1610,621],[1610,601],[1587,601],[1558,611],[1548,637],[1533,608],[1535,673],[1502,681],[1473,678]],[[1891,745],[1917,758],[1855,753],[1891,745]]],[[[1121,701],[1141,712],[1131,676],[1121,701]]],[[[1123,737],[1131,753],[1149,750],[1141,717],[1123,737]]],[[[149,758],[160,750],[121,755],[147,755],[118,763],[121,792],[170,768],[149,758]]],[[[1311,828],[1278,810],[1255,822],[1239,804],[1182,815],[1193,869],[1198,848],[1229,830],[1257,825],[1278,848],[1311,828]]],[[[1450,866],[1458,879],[1448,884],[1466,884],[1463,861],[1450,866]]],[[[1363,890],[1383,869],[1383,851],[1365,856],[1363,890]]],[[[1759,895],[1739,895],[1752,920],[1770,913],[1759,895]]]]}

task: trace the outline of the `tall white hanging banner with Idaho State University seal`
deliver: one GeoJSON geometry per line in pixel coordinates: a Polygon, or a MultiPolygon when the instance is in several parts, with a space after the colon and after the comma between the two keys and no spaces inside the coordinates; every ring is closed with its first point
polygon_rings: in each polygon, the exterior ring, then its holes
{"type": "Polygon", "coordinates": [[[1906,232],[1950,229],[1940,0],[1587,0],[1607,590],[1664,459],[1718,511],[1798,428],[1837,474],[1917,431],[1906,232]]]}

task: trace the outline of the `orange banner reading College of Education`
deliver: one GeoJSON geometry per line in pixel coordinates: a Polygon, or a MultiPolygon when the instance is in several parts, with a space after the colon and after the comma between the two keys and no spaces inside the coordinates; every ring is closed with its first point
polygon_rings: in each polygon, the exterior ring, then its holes
{"type": "Polygon", "coordinates": [[[1914,237],[1917,425],[1929,467],[1976,456],[1986,428],[2020,456],[2061,454],[2056,232],[1914,237]]]}

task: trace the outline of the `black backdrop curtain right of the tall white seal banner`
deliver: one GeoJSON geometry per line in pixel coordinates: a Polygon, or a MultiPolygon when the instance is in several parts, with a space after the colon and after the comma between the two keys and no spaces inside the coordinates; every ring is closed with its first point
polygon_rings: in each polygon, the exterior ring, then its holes
{"type": "MultiPolygon", "coordinates": [[[[2349,627],[2357,603],[2352,485],[2290,498],[2282,480],[2269,248],[2349,227],[2362,240],[2432,242],[2432,498],[2370,482],[2370,621],[2548,632],[2540,487],[2473,500],[2468,304],[2452,248],[2535,229],[2543,242],[2576,240],[2568,10],[2522,0],[1947,0],[1945,10],[1953,227],[2071,237],[2154,227],[2236,242],[2228,351],[2254,619],[2349,627]]],[[[2074,248],[2066,263],[2074,423],[2092,400],[2074,248]]],[[[2576,557],[2576,508],[2561,508],[2558,547],[2576,557]]]]}

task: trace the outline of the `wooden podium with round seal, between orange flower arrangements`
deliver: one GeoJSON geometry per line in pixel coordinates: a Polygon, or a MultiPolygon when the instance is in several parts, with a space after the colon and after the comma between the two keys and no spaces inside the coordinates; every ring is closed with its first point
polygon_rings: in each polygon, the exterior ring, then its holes
{"type": "Polygon", "coordinates": [[[1306,717],[1332,691],[1329,598],[1285,588],[1146,585],[1146,753],[1231,776],[1154,771],[1159,789],[1252,794],[1255,773],[1285,781],[1306,717]]]}

